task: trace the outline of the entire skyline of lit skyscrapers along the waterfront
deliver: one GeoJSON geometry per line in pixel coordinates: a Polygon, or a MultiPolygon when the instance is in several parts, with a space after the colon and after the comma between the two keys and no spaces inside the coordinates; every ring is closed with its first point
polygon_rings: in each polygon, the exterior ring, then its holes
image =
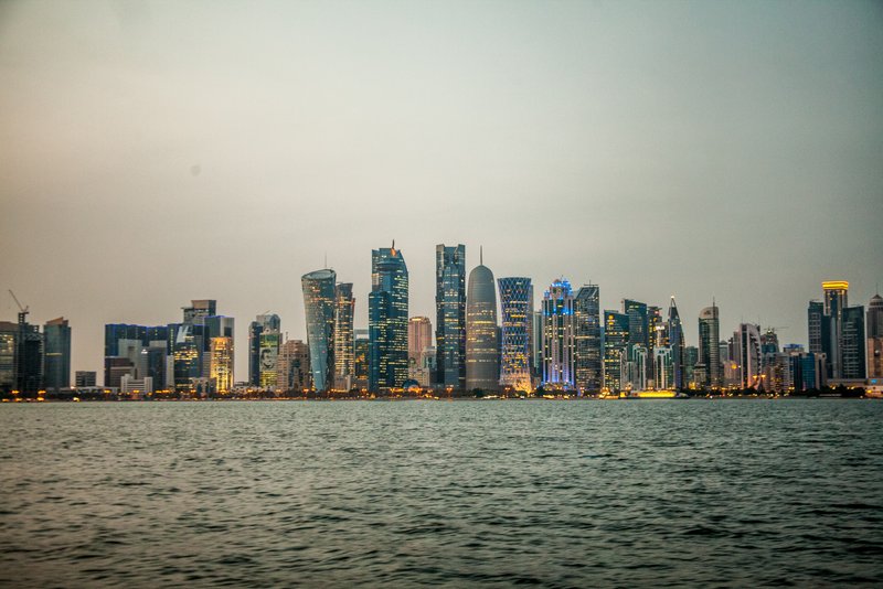
{"type": "MultiPolygon", "coordinates": [[[[479,264],[467,275],[462,244],[436,247],[436,323],[408,315],[408,270],[393,242],[371,253],[368,329],[355,329],[351,282],[323,268],[301,277],[306,342],[283,338],[279,315],[248,325],[248,379],[234,381],[234,319],[216,301],[192,300],[180,322],[105,325],[104,386],[130,396],[158,390],[227,395],[236,387],[274,394],[438,392],[596,395],[624,392],[758,390],[787,393],[828,385],[883,384],[883,298],[865,313],[849,304],[849,283],[822,282],[808,307],[808,342],[780,345],[778,329],[740,323],[722,338],[715,301],[698,317],[687,345],[674,297],[668,310],[634,299],[600,308],[598,285],[561,277],[534,308],[529,277],[494,278],[479,264]]],[[[71,328],[58,318],[42,332],[0,322],[0,392],[66,388],[71,328]]],[[[96,385],[77,372],[76,385],[96,385]]]]}

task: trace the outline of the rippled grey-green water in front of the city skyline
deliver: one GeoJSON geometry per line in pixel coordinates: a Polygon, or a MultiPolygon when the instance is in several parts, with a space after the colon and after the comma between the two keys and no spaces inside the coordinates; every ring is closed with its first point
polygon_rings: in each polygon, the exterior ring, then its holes
{"type": "Polygon", "coordinates": [[[0,406],[0,583],[883,582],[883,403],[0,406]]]}

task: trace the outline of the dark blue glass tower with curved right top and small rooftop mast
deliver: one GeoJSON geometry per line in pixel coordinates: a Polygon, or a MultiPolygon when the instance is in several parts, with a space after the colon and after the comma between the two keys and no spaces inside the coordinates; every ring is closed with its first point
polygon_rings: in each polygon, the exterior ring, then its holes
{"type": "Polygon", "coordinates": [[[395,242],[371,253],[368,331],[369,388],[401,387],[407,379],[407,266],[395,242]]]}

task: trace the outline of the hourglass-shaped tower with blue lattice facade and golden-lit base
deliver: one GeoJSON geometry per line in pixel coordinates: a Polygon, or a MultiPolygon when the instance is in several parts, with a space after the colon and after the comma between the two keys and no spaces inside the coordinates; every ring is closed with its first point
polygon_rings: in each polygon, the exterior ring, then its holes
{"type": "Polygon", "coordinates": [[[533,285],[530,278],[510,277],[497,280],[500,287],[500,384],[530,393],[531,322],[533,321],[533,285]]]}

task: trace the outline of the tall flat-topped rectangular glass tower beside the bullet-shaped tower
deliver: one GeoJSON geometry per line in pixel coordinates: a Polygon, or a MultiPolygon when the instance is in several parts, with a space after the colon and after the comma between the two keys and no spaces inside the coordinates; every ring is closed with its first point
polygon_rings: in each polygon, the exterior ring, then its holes
{"type": "Polygon", "coordinates": [[[435,247],[436,382],[466,386],[466,246],[435,247]]]}

